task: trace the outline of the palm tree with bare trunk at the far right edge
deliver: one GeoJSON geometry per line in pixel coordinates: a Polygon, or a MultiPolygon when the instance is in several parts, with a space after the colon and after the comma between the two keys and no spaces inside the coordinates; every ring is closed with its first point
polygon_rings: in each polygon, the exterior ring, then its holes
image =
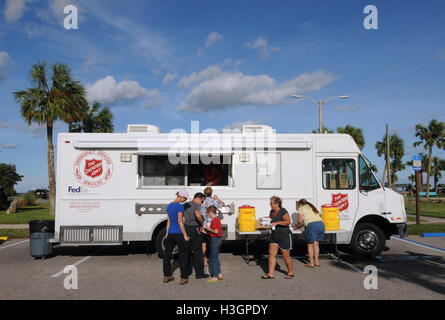
{"type": "Polygon", "coordinates": [[[428,170],[426,175],[426,198],[430,197],[430,175],[431,165],[433,161],[433,147],[445,148],[445,123],[439,122],[433,119],[428,124],[428,127],[424,127],[421,124],[416,125],[416,137],[419,141],[414,142],[414,146],[417,147],[423,144],[425,150],[428,150],[428,170]]]}

